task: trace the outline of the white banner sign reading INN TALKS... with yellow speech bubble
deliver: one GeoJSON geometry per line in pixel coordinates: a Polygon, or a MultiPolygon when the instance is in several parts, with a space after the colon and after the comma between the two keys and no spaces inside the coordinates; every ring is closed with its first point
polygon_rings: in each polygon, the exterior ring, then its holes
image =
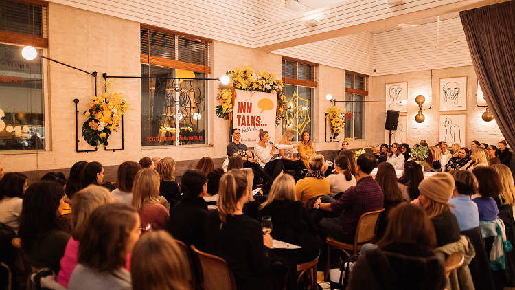
{"type": "Polygon", "coordinates": [[[275,133],[275,111],[277,94],[256,91],[236,90],[236,103],[233,108],[233,128],[240,129],[240,142],[253,147],[258,143],[260,129],[268,131],[273,141],[275,133]]]}

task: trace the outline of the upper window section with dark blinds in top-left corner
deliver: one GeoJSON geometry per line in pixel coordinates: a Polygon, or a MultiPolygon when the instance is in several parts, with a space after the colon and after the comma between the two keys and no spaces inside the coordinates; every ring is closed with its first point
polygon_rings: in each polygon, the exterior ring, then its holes
{"type": "Polygon", "coordinates": [[[0,41],[48,47],[45,2],[0,0],[0,41]]]}

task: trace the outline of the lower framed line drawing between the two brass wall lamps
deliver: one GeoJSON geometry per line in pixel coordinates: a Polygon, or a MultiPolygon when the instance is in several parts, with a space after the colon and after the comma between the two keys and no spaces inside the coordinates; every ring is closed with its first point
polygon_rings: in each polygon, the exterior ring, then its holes
{"type": "Polygon", "coordinates": [[[445,141],[448,146],[455,143],[464,146],[466,122],[466,114],[440,114],[438,118],[438,140],[445,141]]]}

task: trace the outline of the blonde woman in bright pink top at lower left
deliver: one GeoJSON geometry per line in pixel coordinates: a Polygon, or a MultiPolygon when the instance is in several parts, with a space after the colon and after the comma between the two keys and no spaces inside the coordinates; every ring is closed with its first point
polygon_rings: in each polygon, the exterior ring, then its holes
{"type": "Polygon", "coordinates": [[[73,269],[78,264],[79,241],[84,236],[89,215],[100,205],[112,202],[109,190],[103,186],[91,185],[73,194],[71,199],[72,236],[66,244],[65,256],[62,256],[61,269],[57,276],[57,282],[63,287],[68,287],[73,269]]]}

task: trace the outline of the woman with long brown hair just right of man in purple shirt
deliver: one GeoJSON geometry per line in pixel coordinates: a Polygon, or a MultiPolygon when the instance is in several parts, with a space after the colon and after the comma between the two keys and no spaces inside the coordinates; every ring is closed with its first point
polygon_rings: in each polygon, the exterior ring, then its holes
{"type": "Polygon", "coordinates": [[[396,170],[393,168],[393,165],[388,162],[383,162],[379,164],[377,168],[376,174],[376,182],[382,189],[382,193],[385,194],[385,201],[383,201],[383,208],[385,208],[385,212],[383,212],[380,216],[377,236],[381,238],[383,234],[385,234],[385,230],[388,223],[388,212],[395,208],[399,203],[403,201],[402,193],[400,192],[400,188],[397,183],[397,175],[396,170]]]}

